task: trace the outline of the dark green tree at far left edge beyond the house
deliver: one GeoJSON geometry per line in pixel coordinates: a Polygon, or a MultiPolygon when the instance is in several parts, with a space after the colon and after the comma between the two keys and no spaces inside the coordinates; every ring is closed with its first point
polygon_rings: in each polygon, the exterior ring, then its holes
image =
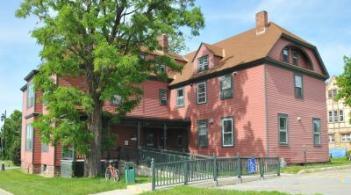
{"type": "Polygon", "coordinates": [[[19,165],[21,160],[22,113],[15,110],[10,117],[4,119],[0,131],[4,151],[0,155],[3,155],[3,159],[11,160],[19,165]]]}

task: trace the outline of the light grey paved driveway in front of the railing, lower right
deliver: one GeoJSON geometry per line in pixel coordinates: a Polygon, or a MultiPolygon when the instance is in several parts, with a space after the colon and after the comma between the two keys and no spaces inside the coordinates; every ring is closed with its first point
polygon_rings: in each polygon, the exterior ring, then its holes
{"type": "Polygon", "coordinates": [[[284,175],[230,186],[223,189],[281,191],[292,194],[351,195],[351,169],[301,175],[284,175]]]}

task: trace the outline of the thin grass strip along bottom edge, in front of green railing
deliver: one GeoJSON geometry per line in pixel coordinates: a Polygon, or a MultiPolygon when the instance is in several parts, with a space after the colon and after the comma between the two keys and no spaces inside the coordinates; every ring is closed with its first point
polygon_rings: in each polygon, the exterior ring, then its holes
{"type": "Polygon", "coordinates": [[[256,192],[256,191],[236,191],[236,190],[219,190],[219,189],[204,189],[204,188],[194,188],[189,186],[178,186],[169,190],[158,190],[154,192],[146,192],[142,195],[288,195],[282,192],[256,192]]]}

